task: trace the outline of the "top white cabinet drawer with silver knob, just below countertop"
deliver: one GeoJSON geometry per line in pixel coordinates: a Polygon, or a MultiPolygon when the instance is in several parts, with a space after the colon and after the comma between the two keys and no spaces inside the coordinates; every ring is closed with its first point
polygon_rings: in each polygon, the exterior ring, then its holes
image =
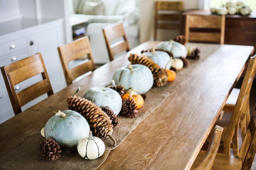
{"type": "Polygon", "coordinates": [[[18,50],[22,50],[23,48],[27,48],[27,47],[28,47],[28,43],[27,43],[26,36],[5,41],[3,43],[0,43],[0,56],[11,53],[11,52],[15,52],[18,50]]]}

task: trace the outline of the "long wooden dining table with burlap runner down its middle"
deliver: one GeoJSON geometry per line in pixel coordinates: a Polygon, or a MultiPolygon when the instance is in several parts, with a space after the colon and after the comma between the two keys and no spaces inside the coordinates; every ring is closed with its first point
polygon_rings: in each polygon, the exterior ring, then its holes
{"type": "MultiPolygon", "coordinates": [[[[67,109],[65,100],[78,86],[85,90],[106,87],[114,72],[129,64],[130,53],[140,53],[158,43],[140,44],[86,78],[1,123],[0,153],[44,127],[53,111],[67,109]]],[[[253,51],[252,46],[191,45],[197,46],[201,54],[212,52],[202,59],[189,60],[187,68],[177,71],[177,78],[172,82],[176,88],[110,151],[98,169],[190,169],[253,51]]]]}

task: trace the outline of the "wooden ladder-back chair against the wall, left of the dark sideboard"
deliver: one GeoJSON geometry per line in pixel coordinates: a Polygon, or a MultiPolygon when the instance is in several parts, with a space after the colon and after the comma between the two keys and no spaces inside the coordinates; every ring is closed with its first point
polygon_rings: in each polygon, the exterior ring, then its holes
{"type": "Polygon", "coordinates": [[[158,29],[180,29],[183,1],[155,1],[154,40],[157,40],[158,29]]]}

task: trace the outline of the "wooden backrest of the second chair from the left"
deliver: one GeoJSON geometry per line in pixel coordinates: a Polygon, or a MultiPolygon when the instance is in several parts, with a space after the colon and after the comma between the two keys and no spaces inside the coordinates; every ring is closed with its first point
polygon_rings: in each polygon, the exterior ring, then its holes
{"type": "Polygon", "coordinates": [[[95,64],[93,61],[93,55],[91,52],[91,46],[88,39],[88,36],[75,40],[72,43],[65,44],[58,47],[60,61],[62,68],[65,74],[67,85],[72,84],[72,81],[79,77],[80,75],[85,74],[86,72],[95,70],[95,64]],[[79,59],[87,55],[87,61],[76,66],[72,69],[69,69],[68,63],[79,59]]]}

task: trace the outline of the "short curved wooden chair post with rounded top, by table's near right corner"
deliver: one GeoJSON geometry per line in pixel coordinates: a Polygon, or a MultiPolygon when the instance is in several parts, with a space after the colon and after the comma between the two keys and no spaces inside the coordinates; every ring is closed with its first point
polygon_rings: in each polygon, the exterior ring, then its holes
{"type": "Polygon", "coordinates": [[[215,126],[214,135],[212,136],[211,143],[206,153],[206,157],[200,163],[200,165],[196,167],[196,170],[210,170],[212,168],[214,159],[219,149],[219,144],[221,143],[222,131],[223,127],[218,125],[215,126]]]}

